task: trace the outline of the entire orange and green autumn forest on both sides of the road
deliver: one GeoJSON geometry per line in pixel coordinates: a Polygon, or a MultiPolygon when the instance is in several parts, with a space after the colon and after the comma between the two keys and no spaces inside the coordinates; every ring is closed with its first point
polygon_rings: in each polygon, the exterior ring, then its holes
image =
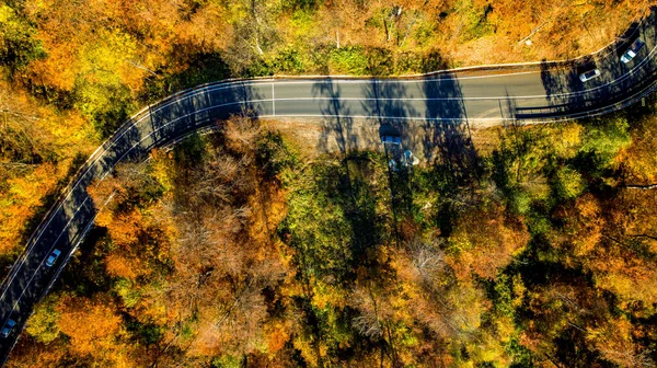
{"type": "MultiPolygon", "coordinates": [[[[171,93],[570,58],[649,1],[521,4],[0,0],[2,276],[91,152],[171,93]]],[[[112,200],[7,366],[655,367],[655,131],[653,97],[391,173],[380,150],[217,122],[90,189],[112,200]]]]}

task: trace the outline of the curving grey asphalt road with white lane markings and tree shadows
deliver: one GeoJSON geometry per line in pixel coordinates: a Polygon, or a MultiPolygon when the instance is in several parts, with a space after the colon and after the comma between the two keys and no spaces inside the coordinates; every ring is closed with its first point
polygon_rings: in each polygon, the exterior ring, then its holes
{"type": "MultiPolygon", "coordinates": [[[[0,323],[18,322],[9,337],[0,337],[2,364],[20,332],[78,244],[92,227],[96,210],[87,187],[103,180],[117,163],[143,160],[151,149],[207,128],[231,114],[250,111],[258,118],[374,118],[462,124],[487,122],[554,122],[600,115],[635,103],[656,89],[657,8],[629,32],[646,42],[629,64],[619,60],[614,43],[589,56],[602,74],[578,79],[577,61],[509,65],[451,70],[407,78],[269,78],[232,80],[173,94],[126,122],[78,172],[57,204],[27,242],[3,283],[0,323]],[[45,266],[54,249],[57,264],[45,266]]],[[[579,66],[579,67],[578,67],[579,66]]]]}

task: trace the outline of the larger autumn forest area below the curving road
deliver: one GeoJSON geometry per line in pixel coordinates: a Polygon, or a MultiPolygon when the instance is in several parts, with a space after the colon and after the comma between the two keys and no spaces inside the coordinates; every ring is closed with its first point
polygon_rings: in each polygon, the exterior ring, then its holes
{"type": "Polygon", "coordinates": [[[656,130],[488,128],[391,174],[234,117],[93,187],[9,367],[652,367],[656,130]]]}

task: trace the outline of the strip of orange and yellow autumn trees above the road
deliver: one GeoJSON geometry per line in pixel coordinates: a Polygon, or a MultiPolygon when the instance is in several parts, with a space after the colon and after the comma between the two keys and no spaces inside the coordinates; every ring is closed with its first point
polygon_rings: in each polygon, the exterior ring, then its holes
{"type": "Polygon", "coordinates": [[[633,2],[0,2],[0,268],[87,157],[148,102],[230,77],[402,74],[592,51],[633,2]],[[532,46],[518,43],[531,37],[532,46]]]}

